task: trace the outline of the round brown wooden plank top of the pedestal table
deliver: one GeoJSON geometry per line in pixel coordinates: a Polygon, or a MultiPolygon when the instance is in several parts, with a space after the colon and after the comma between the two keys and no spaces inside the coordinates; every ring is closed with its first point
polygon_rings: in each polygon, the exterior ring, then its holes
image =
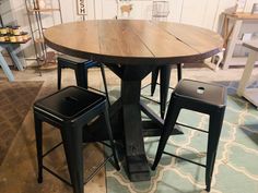
{"type": "Polygon", "coordinates": [[[119,64],[194,62],[218,53],[221,36],[197,26],[136,20],[102,20],[56,25],[44,32],[52,49],[119,64]]]}

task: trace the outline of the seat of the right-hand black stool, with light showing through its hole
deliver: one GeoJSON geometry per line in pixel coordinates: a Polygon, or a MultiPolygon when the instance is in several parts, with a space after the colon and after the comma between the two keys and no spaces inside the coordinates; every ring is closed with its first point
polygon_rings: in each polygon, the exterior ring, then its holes
{"type": "Polygon", "coordinates": [[[174,95],[187,97],[214,106],[224,106],[226,102],[225,87],[199,81],[181,80],[175,88],[174,95]]]}

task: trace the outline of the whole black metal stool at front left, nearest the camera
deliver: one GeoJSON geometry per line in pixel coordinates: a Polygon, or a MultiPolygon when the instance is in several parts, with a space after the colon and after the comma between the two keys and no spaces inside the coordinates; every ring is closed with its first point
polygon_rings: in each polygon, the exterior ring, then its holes
{"type": "Polygon", "coordinates": [[[69,86],[34,104],[39,183],[43,182],[43,169],[45,169],[72,185],[74,193],[83,193],[83,126],[97,118],[97,116],[104,116],[105,118],[106,125],[103,125],[103,128],[107,129],[110,142],[109,147],[113,154],[106,157],[104,162],[93,171],[90,178],[112,157],[114,157],[116,169],[119,170],[105,96],[89,92],[85,88],[69,86]],[[71,183],[43,165],[43,158],[58,146],[43,154],[43,122],[60,129],[71,183]]]}

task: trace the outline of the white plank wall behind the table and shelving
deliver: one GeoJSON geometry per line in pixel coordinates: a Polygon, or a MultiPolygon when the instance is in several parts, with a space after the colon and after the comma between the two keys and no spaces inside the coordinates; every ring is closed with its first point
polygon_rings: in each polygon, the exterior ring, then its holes
{"type": "MultiPolygon", "coordinates": [[[[27,14],[25,9],[25,0],[3,0],[10,1],[12,17],[3,15],[3,20],[14,20],[15,23],[21,25],[24,31],[30,32],[27,14]]],[[[46,0],[52,1],[54,5],[57,0],[46,0]]],[[[77,15],[77,0],[60,0],[63,22],[72,22],[82,20],[81,16],[77,15]]],[[[258,0],[247,0],[245,4],[245,11],[250,11],[253,3],[258,2],[258,0]]],[[[169,0],[171,13],[167,21],[180,22],[191,25],[197,25],[213,29],[215,32],[220,31],[222,19],[221,13],[234,7],[236,0],[169,0]]],[[[8,11],[8,10],[7,10],[8,11]]],[[[10,14],[10,13],[9,13],[10,14]]],[[[130,1],[119,1],[119,0],[87,0],[87,16],[89,20],[94,19],[140,19],[140,20],[151,20],[152,15],[152,0],[130,0],[130,1]],[[130,16],[121,16],[119,7],[121,4],[132,3],[132,11],[130,16]],[[95,8],[95,9],[94,9],[95,8]]],[[[46,25],[58,24],[58,15],[55,14],[55,20],[51,15],[46,14],[44,16],[46,25]]],[[[23,45],[26,48],[26,57],[32,57],[32,43],[23,45]]]]}

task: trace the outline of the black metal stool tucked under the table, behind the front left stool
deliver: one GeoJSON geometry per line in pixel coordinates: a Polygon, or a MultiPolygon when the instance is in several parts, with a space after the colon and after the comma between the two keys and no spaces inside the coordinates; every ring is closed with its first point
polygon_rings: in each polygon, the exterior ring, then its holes
{"type": "Polygon", "coordinates": [[[80,59],[80,58],[75,58],[75,57],[71,57],[71,56],[67,56],[67,55],[59,56],[57,58],[57,68],[58,68],[57,69],[57,87],[58,87],[58,89],[61,88],[61,70],[69,68],[69,69],[74,70],[77,85],[80,87],[89,88],[87,69],[93,68],[93,67],[101,68],[101,73],[102,73],[102,79],[103,79],[105,92],[102,92],[102,91],[93,88],[93,87],[90,87],[90,88],[94,89],[96,92],[104,93],[106,95],[108,105],[110,106],[108,91],[107,91],[106,75],[105,75],[103,63],[92,61],[92,60],[80,59]]]}

